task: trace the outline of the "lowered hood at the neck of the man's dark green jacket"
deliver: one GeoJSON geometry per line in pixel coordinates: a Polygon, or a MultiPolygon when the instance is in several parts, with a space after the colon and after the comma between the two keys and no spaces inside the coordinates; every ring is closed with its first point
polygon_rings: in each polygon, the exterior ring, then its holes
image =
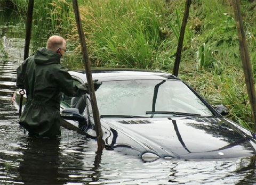
{"type": "Polygon", "coordinates": [[[43,47],[36,51],[35,63],[38,65],[59,64],[60,56],[57,53],[43,47]]]}

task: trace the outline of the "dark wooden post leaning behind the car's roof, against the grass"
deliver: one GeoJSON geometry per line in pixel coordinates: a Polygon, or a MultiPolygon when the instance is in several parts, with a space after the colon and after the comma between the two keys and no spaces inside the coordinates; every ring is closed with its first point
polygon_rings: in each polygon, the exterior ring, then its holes
{"type": "Polygon", "coordinates": [[[185,6],[185,12],[184,12],[184,15],[183,15],[183,20],[182,20],[182,26],[181,26],[181,30],[180,30],[180,37],[179,37],[179,43],[178,43],[178,47],[177,47],[177,51],[176,51],[174,68],[173,68],[173,72],[172,72],[172,74],[175,75],[176,77],[178,77],[178,73],[179,73],[182,44],[183,44],[186,24],[187,24],[187,20],[188,20],[190,4],[191,4],[191,0],[187,0],[186,6],[185,6]]]}

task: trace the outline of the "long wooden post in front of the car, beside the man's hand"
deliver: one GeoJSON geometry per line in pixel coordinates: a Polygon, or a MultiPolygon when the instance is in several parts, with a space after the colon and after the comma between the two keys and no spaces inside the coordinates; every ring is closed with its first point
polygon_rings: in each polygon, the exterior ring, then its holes
{"type": "Polygon", "coordinates": [[[98,152],[99,152],[104,148],[104,142],[102,140],[102,129],[101,129],[101,123],[100,123],[99,110],[98,110],[98,106],[97,106],[95,90],[94,90],[94,85],[93,85],[93,81],[92,81],[91,63],[89,61],[89,56],[87,53],[84,31],[83,31],[82,22],[80,19],[77,0],[73,0],[72,2],[73,2],[73,8],[74,8],[74,13],[75,13],[75,17],[76,17],[78,34],[79,34],[79,38],[80,38],[80,42],[81,42],[81,46],[82,46],[84,67],[85,67],[85,72],[86,72],[87,83],[89,85],[89,94],[91,97],[93,119],[94,119],[94,124],[95,124],[95,130],[97,133],[98,152]]]}

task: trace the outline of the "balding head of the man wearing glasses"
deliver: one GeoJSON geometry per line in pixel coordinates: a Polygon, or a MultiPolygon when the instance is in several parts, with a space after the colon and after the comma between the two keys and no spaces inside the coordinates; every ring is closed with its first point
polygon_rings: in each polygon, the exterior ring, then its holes
{"type": "Polygon", "coordinates": [[[46,48],[53,52],[56,52],[58,48],[66,49],[66,41],[63,39],[63,37],[57,35],[51,36],[47,40],[46,48]]]}

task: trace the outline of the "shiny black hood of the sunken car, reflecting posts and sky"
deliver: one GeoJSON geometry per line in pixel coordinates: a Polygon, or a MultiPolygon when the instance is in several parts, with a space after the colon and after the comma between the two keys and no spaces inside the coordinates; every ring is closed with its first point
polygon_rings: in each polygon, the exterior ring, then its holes
{"type": "Polygon", "coordinates": [[[255,134],[225,118],[103,118],[106,146],[142,156],[184,159],[255,155],[255,134]]]}

